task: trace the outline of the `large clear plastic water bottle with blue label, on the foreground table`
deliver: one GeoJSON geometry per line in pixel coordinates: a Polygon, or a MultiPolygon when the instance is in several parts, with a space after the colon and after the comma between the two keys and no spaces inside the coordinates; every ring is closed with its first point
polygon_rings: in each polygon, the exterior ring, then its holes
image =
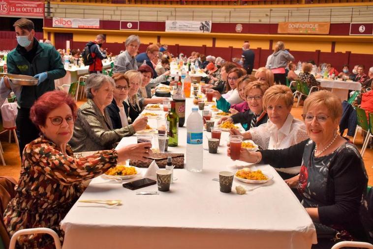
{"type": "Polygon", "coordinates": [[[203,164],[203,121],[198,108],[193,107],[187,119],[187,165],[191,172],[201,172],[203,164]]]}

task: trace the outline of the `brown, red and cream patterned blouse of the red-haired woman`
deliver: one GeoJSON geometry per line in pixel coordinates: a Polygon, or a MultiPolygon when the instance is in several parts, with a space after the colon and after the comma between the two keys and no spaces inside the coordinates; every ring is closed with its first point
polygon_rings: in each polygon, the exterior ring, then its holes
{"type": "MultiPolygon", "coordinates": [[[[24,228],[48,227],[63,241],[60,222],[83,193],[82,181],[97,177],[117,164],[116,150],[104,150],[75,159],[69,145],[67,155],[53,142],[38,138],[23,151],[16,196],[4,213],[10,236],[24,228]]],[[[49,235],[22,236],[19,248],[54,248],[49,235]]]]}

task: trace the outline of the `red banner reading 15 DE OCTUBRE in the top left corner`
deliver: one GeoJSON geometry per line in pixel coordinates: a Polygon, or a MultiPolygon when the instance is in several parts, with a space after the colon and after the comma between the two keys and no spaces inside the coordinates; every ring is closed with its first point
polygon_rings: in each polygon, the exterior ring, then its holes
{"type": "Polygon", "coordinates": [[[0,16],[44,17],[44,1],[0,0],[0,16]]]}

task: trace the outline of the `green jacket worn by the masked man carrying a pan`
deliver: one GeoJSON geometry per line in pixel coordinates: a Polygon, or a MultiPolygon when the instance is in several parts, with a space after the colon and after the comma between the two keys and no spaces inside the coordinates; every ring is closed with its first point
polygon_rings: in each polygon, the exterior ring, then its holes
{"type": "Polygon", "coordinates": [[[37,100],[45,92],[55,89],[55,79],[62,78],[66,71],[63,68],[62,60],[59,52],[48,44],[39,43],[33,39],[37,46],[35,57],[30,64],[23,56],[24,49],[17,45],[15,49],[10,51],[7,56],[6,65],[8,73],[22,74],[34,76],[41,72],[47,72],[47,79],[41,82],[38,86],[23,86],[21,97],[17,100],[19,107],[31,108],[35,100],[37,100]]]}

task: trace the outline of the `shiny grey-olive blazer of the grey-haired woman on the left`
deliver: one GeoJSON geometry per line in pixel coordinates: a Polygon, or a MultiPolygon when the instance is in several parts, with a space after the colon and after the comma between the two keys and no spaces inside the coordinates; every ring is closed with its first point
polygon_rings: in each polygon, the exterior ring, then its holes
{"type": "Polygon", "coordinates": [[[74,134],[69,142],[74,152],[113,149],[123,137],[135,133],[132,125],[113,130],[106,108],[104,113],[102,115],[91,99],[79,107],[74,134]]]}

